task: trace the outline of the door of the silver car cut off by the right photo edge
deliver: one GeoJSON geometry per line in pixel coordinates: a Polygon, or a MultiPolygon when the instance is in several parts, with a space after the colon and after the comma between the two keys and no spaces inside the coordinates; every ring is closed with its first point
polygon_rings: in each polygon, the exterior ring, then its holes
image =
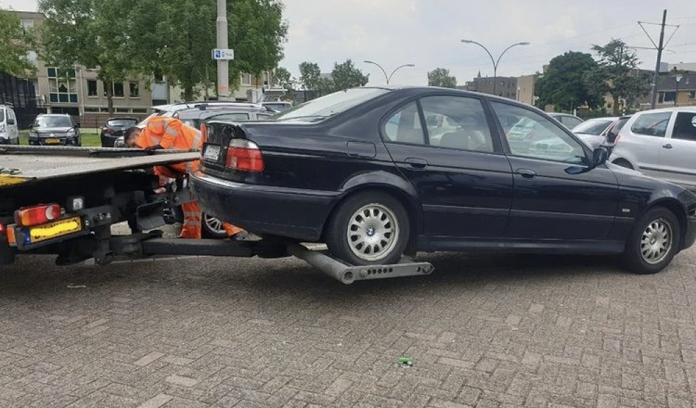
{"type": "Polygon", "coordinates": [[[660,149],[664,179],[696,186],[696,111],[676,112],[660,149]]]}

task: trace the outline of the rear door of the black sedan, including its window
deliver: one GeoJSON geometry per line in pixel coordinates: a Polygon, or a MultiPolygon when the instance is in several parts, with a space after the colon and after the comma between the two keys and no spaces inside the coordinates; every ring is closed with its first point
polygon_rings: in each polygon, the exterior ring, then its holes
{"type": "Polygon", "coordinates": [[[503,236],[512,172],[480,99],[422,97],[383,123],[389,153],[420,196],[427,236],[503,236]],[[438,120],[422,126],[427,117],[438,120]]]}

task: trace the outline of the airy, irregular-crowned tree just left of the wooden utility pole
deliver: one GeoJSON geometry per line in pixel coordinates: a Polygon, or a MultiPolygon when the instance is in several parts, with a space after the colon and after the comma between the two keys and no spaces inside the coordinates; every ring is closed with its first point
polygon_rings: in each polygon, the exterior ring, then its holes
{"type": "Polygon", "coordinates": [[[647,95],[649,78],[638,72],[638,56],[628,49],[622,40],[611,40],[608,44],[594,45],[599,66],[587,72],[585,81],[593,92],[612,97],[613,114],[619,115],[619,100],[628,104],[633,99],[647,95]]]}

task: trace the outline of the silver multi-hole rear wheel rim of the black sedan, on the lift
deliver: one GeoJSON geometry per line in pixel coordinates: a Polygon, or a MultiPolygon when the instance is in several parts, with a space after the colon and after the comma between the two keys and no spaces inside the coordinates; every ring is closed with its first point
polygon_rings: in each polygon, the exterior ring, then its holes
{"type": "Polygon", "coordinates": [[[389,254],[399,240],[396,215],[381,204],[372,203],[358,209],[347,229],[350,250],[363,261],[374,262],[389,254]]]}

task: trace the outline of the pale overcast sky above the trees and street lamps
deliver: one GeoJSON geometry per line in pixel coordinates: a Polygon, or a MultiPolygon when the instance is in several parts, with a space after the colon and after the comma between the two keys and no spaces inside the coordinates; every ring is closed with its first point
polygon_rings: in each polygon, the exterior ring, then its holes
{"type": "MultiPolygon", "coordinates": [[[[198,0],[214,1],[214,0],[198,0]]],[[[351,58],[370,84],[385,83],[381,70],[363,63],[373,60],[389,74],[403,64],[391,83],[425,85],[427,72],[444,67],[459,84],[480,70],[493,75],[483,49],[461,39],[484,44],[498,57],[515,42],[530,42],[507,51],[499,76],[541,71],[541,66],[565,51],[590,52],[592,44],[622,38],[631,47],[654,47],[638,25],[661,22],[667,9],[665,39],[674,37],[663,54],[667,63],[696,62],[694,0],[284,0],[290,31],[285,59],[280,63],[294,75],[302,61],[331,72],[333,63],[351,58]]],[[[35,0],[0,0],[0,7],[35,10],[35,0]]],[[[647,26],[658,42],[659,26],[647,26]]],[[[230,44],[234,48],[234,44],[230,44]]],[[[654,69],[657,51],[638,49],[640,67],[654,69]]]]}

